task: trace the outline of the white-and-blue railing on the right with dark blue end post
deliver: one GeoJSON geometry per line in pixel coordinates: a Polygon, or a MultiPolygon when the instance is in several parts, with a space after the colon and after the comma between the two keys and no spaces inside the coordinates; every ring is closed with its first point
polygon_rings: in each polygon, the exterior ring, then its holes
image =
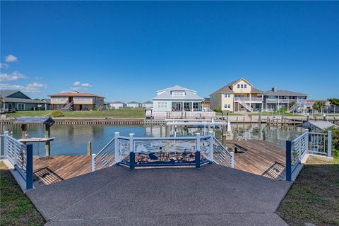
{"type": "Polygon", "coordinates": [[[332,132],[313,133],[305,130],[293,141],[286,141],[286,180],[291,181],[292,174],[307,153],[332,157],[332,132]]]}

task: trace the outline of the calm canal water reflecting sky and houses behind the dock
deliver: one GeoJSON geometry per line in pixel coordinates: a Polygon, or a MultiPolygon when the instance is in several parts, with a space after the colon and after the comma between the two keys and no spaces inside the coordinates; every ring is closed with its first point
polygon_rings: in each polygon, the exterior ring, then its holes
{"type": "MultiPolygon", "coordinates": [[[[242,124],[231,125],[230,132],[224,132],[227,139],[260,139],[285,147],[287,139],[294,139],[302,134],[302,128],[293,126],[267,126],[266,124],[242,124]]],[[[13,132],[14,138],[21,137],[20,125],[4,125],[4,131],[13,132]]],[[[167,129],[170,134],[174,128],[167,129]]],[[[177,136],[194,136],[194,133],[202,133],[202,129],[177,127],[177,136]]],[[[53,125],[51,136],[55,137],[51,142],[51,155],[86,155],[87,142],[92,142],[92,152],[97,153],[103,148],[114,132],[120,132],[121,136],[165,136],[165,126],[128,126],[128,125],[53,125]]],[[[221,131],[216,129],[215,136],[221,138],[221,131]]],[[[44,126],[28,125],[28,137],[44,137],[44,126]]],[[[34,144],[34,155],[44,155],[44,143],[34,144]]]]}

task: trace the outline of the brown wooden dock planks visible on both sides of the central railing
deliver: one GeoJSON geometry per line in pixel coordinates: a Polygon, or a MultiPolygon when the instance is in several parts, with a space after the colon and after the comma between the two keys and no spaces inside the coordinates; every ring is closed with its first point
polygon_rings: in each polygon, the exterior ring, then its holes
{"type": "MultiPolygon", "coordinates": [[[[226,141],[247,150],[234,153],[234,168],[271,179],[282,179],[285,169],[285,148],[267,141],[226,141]]],[[[86,155],[54,155],[34,157],[34,186],[44,186],[78,177],[91,171],[91,157],[86,155]]]]}

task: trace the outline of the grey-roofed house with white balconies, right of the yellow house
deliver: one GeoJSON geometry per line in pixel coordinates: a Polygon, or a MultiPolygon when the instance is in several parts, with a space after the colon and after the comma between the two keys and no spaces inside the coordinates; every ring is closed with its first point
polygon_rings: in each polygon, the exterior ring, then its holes
{"type": "Polygon", "coordinates": [[[307,107],[311,107],[312,104],[309,103],[310,106],[307,106],[307,97],[309,95],[305,93],[297,93],[289,90],[278,90],[277,88],[272,88],[267,92],[263,93],[263,102],[266,110],[278,110],[281,107],[285,107],[286,109],[290,109],[290,102],[295,102],[295,107],[302,106],[304,109],[307,107]]]}

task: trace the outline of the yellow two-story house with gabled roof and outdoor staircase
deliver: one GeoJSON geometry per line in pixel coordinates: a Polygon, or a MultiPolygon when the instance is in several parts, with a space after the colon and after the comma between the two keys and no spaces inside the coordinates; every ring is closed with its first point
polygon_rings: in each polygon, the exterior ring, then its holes
{"type": "Polygon", "coordinates": [[[210,94],[210,109],[229,112],[257,112],[263,110],[263,91],[240,78],[210,94]]]}

